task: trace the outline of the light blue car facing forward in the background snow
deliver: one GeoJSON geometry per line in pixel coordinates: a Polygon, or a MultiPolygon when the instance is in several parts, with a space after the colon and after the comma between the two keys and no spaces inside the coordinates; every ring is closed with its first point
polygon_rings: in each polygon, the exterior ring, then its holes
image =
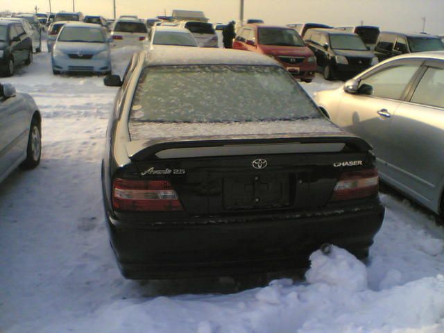
{"type": "Polygon", "coordinates": [[[102,26],[71,22],[58,33],[51,52],[53,74],[111,73],[110,40],[102,26]]]}

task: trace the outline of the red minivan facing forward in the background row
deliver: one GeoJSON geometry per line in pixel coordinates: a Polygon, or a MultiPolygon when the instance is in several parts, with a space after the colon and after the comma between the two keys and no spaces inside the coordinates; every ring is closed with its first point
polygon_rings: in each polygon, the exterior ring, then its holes
{"type": "Polygon", "coordinates": [[[286,26],[246,24],[239,28],[233,49],[253,51],[278,60],[294,78],[311,82],[316,57],[300,35],[286,26]]]}

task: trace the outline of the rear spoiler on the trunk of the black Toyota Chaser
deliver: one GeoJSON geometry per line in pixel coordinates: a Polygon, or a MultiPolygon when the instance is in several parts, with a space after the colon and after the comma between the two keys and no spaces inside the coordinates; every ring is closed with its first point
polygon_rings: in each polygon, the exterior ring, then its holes
{"type": "Polygon", "coordinates": [[[366,152],[372,147],[355,135],[234,135],[156,138],[128,142],[130,160],[209,157],[220,155],[264,155],[280,153],[366,152]]]}

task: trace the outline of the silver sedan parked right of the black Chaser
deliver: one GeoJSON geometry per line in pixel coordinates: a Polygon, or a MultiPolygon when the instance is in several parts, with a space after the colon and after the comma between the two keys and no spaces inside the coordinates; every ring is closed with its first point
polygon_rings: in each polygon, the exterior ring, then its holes
{"type": "Polygon", "coordinates": [[[382,180],[444,216],[444,51],[390,58],[315,101],[372,144],[382,180]]]}

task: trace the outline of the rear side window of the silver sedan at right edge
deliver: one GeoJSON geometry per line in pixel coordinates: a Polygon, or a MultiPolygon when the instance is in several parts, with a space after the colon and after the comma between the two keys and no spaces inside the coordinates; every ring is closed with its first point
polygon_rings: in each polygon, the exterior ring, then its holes
{"type": "Polygon", "coordinates": [[[429,68],[416,87],[411,101],[444,108],[444,69],[429,68]]]}

